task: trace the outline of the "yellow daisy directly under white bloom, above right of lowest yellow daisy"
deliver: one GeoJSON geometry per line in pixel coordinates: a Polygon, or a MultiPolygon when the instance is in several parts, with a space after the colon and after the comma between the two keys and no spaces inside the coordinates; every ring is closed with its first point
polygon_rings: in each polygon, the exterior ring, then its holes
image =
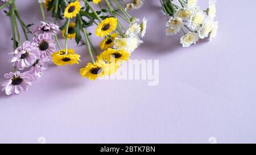
{"type": "Polygon", "coordinates": [[[123,60],[129,60],[130,53],[125,51],[124,49],[112,49],[109,48],[108,50],[104,51],[100,55],[101,58],[105,59],[108,62],[118,62],[123,60]]]}

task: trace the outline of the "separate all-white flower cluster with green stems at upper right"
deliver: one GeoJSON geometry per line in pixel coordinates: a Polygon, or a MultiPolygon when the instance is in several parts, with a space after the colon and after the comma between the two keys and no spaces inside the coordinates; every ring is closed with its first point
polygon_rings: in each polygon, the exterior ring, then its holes
{"type": "Polygon", "coordinates": [[[200,39],[214,39],[218,30],[216,16],[216,1],[209,0],[207,10],[200,10],[197,0],[178,0],[181,7],[172,1],[160,0],[169,20],[166,23],[166,35],[172,36],[182,31],[180,43],[183,47],[196,44],[200,39]],[[187,30],[187,31],[185,31],[187,30]]]}

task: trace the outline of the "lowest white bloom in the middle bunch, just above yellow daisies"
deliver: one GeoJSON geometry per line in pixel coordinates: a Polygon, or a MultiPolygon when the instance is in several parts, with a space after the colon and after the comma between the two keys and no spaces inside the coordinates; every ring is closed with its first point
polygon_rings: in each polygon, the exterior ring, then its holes
{"type": "Polygon", "coordinates": [[[128,38],[116,38],[114,40],[114,48],[117,50],[125,49],[128,52],[134,52],[135,49],[143,43],[138,36],[128,38]]]}

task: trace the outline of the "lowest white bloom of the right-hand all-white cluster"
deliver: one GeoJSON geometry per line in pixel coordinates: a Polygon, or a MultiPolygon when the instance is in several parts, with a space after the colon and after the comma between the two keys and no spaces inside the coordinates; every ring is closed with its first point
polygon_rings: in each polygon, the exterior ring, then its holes
{"type": "Polygon", "coordinates": [[[190,45],[196,44],[196,41],[198,40],[199,40],[198,33],[189,32],[185,34],[183,37],[181,37],[180,44],[182,44],[183,47],[190,47],[190,45]]]}

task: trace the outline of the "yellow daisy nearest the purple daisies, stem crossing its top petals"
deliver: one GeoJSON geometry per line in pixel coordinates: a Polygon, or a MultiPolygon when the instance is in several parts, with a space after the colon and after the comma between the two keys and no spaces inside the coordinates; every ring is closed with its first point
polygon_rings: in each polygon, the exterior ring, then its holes
{"type": "Polygon", "coordinates": [[[68,55],[66,55],[63,49],[52,54],[52,61],[57,66],[79,64],[80,55],[75,54],[73,49],[68,49],[68,55]]]}

